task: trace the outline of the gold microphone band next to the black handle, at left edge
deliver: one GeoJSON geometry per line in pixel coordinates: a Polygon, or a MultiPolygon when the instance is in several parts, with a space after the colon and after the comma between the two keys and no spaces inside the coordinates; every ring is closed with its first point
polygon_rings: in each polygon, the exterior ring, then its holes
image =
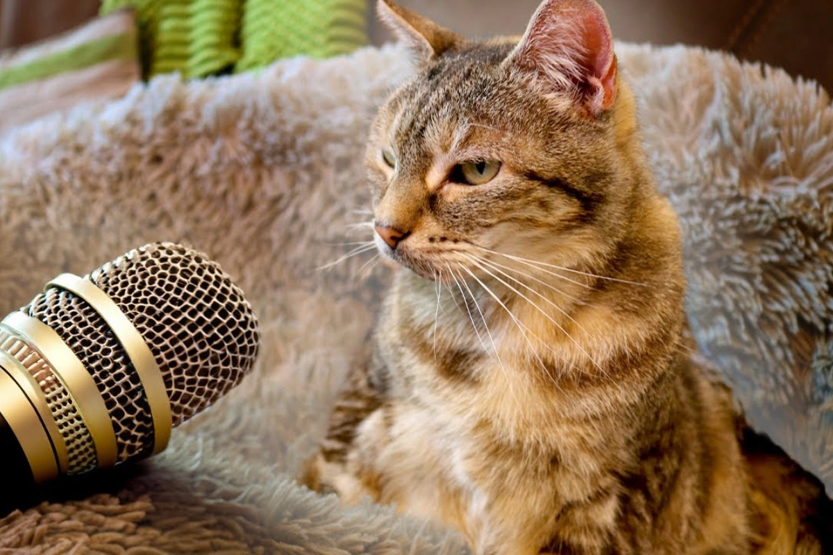
{"type": "MultiPolygon", "coordinates": [[[[16,359],[0,351],[0,414],[6,419],[17,443],[23,449],[35,482],[47,482],[57,478],[60,473],[57,453],[28,395],[8,372],[9,369],[17,373],[25,372],[24,369],[16,368],[17,364],[16,359]]],[[[14,476],[5,478],[15,479],[14,476]]]]}

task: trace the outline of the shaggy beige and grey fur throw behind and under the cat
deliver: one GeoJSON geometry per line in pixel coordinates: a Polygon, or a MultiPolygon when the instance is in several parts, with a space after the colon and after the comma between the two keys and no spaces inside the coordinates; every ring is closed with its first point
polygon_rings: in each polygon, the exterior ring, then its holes
{"type": "MultiPolygon", "coordinates": [[[[751,421],[833,484],[833,108],[719,53],[620,45],[656,177],[681,215],[691,329],[751,421]]],[[[159,77],[0,142],[2,314],[62,271],[182,241],[255,306],[255,372],[138,466],[0,520],[0,553],[461,553],[460,538],[297,486],[387,271],[367,238],[367,124],[402,51],[159,77]],[[369,256],[368,256],[369,257],[369,256]]]]}

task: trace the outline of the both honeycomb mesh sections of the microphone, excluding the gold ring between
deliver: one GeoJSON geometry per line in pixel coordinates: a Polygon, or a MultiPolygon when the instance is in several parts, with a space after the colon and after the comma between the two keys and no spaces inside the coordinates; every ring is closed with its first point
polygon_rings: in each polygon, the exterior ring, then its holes
{"type": "MultiPolygon", "coordinates": [[[[177,426],[237,385],[257,358],[252,307],[228,275],[196,250],[156,243],[87,276],[137,329],[162,372],[177,426]]],[[[61,336],[97,384],[117,439],[117,460],[152,452],[147,395],[121,344],[85,300],[52,288],[22,309],[61,336]]]]}

